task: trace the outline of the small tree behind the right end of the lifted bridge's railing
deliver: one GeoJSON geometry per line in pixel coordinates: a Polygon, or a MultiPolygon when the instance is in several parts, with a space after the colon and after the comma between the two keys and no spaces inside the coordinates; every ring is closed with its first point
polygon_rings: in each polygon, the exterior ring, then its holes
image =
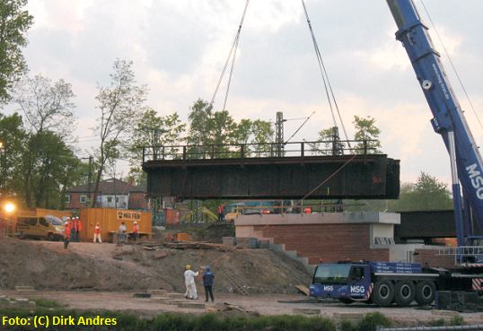
{"type": "Polygon", "coordinates": [[[354,138],[356,140],[364,140],[366,142],[361,142],[356,144],[356,154],[377,154],[381,153],[381,141],[379,140],[379,135],[381,135],[381,130],[375,126],[375,119],[368,116],[367,118],[354,117],[354,126],[356,126],[356,135],[354,138]]]}

